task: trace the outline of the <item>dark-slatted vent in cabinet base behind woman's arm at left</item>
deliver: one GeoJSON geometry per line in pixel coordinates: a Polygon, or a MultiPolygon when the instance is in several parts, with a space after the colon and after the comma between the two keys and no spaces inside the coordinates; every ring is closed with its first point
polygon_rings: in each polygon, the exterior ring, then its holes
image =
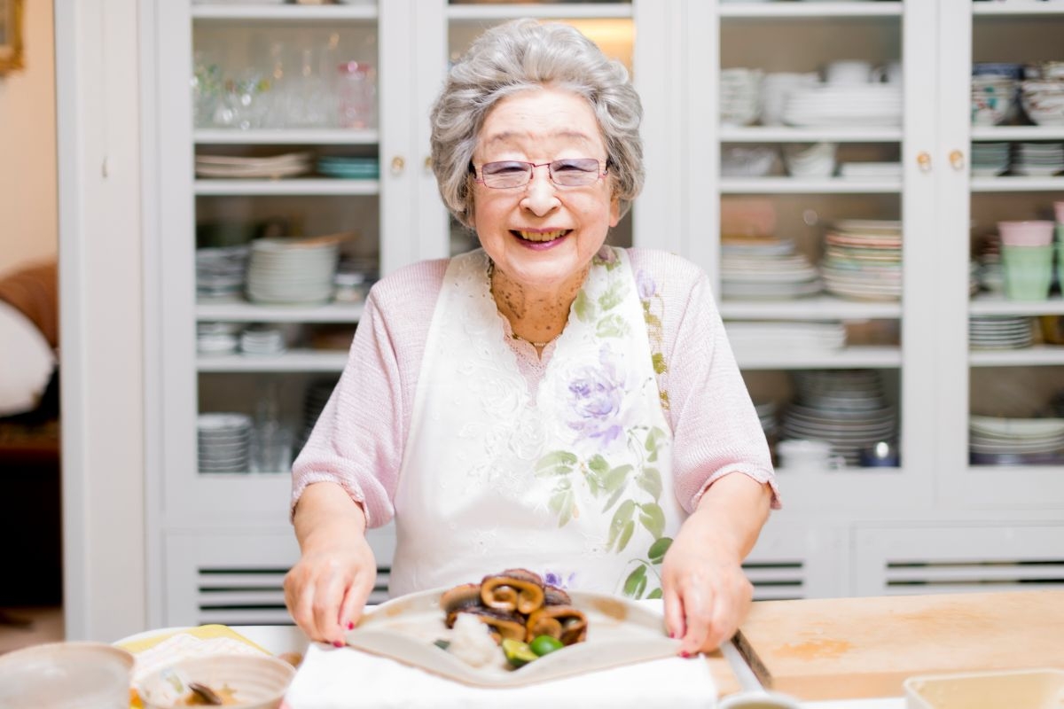
{"type": "MultiPolygon", "coordinates": [[[[284,575],[279,568],[201,567],[196,604],[198,623],[222,625],[292,625],[284,605],[284,575]]],[[[377,569],[377,585],[369,604],[387,601],[390,567],[377,569]]]]}

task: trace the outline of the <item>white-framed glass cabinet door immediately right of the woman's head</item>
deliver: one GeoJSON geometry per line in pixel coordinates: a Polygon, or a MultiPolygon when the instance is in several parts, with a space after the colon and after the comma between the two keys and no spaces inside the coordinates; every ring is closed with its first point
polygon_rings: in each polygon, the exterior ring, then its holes
{"type": "Polygon", "coordinates": [[[931,149],[934,116],[914,4],[687,6],[691,32],[716,40],[699,55],[716,85],[691,79],[715,90],[718,125],[698,158],[713,168],[691,172],[693,212],[703,190],[719,196],[700,226],[715,248],[691,255],[716,278],[781,477],[811,480],[787,486],[792,501],[814,501],[822,475],[863,496],[927,484],[902,475],[929,450],[915,401],[927,344],[910,335],[931,225],[909,158],[931,149]]]}

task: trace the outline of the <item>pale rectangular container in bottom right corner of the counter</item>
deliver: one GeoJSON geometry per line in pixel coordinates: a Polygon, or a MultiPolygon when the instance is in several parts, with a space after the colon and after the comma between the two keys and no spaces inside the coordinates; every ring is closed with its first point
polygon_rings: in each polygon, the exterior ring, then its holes
{"type": "Polygon", "coordinates": [[[907,709],[1060,709],[1064,670],[1015,670],[910,677],[907,709]]]}

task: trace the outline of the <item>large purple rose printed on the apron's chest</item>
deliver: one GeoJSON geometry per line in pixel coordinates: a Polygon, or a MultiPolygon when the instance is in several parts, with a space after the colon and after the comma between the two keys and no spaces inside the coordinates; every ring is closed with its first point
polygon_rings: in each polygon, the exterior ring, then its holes
{"type": "Polygon", "coordinates": [[[599,350],[599,362],[578,368],[569,379],[566,405],[569,428],[603,445],[624,434],[620,420],[625,400],[625,376],[620,362],[606,348],[599,350]]]}

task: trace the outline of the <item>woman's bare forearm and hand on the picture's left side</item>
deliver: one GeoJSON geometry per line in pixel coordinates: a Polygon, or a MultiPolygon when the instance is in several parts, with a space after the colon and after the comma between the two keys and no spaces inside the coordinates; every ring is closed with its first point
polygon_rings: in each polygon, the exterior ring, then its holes
{"type": "Polygon", "coordinates": [[[284,602],[311,640],[343,645],[377,580],[366,517],[337,485],[309,486],[296,507],[302,555],[284,577],[284,602]]]}

